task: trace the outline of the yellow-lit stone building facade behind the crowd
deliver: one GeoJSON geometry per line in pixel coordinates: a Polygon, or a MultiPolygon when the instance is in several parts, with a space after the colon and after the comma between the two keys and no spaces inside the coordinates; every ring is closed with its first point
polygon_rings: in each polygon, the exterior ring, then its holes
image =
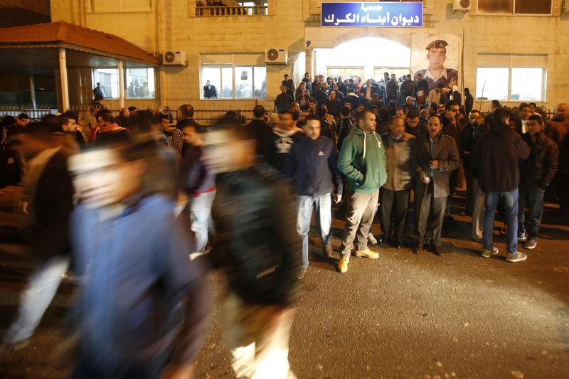
{"type": "MultiPolygon", "coordinates": [[[[196,10],[195,0],[52,0],[50,6],[52,21],[115,34],[156,56],[166,50],[186,53],[185,67],[161,66],[157,70],[156,100],[127,100],[128,105],[176,108],[190,102],[201,110],[250,110],[258,101],[272,108],[285,73],[295,82],[305,71],[315,74],[317,49],[334,48],[361,37],[410,46],[411,33],[451,33],[463,39],[461,87],[469,87],[474,97],[480,95],[475,91],[477,68],[511,68],[520,62],[520,67],[543,68],[543,96],[538,104],[552,109],[567,101],[569,9],[565,9],[565,1],[551,0],[551,14],[545,16],[482,14],[479,1],[483,0],[471,1],[470,11],[453,11],[452,0],[424,0],[422,28],[322,28],[321,1],[317,0],[265,0],[259,4],[267,4],[267,15],[259,16],[198,16],[203,10],[196,10]],[[265,65],[265,49],[272,47],[287,50],[288,65],[265,65]],[[265,67],[267,98],[204,100],[202,69],[212,63],[224,63],[232,70],[265,67]]],[[[85,74],[85,79],[88,76],[85,74]]],[[[516,105],[516,100],[508,100],[504,103],[516,105]]],[[[483,110],[489,109],[489,101],[480,104],[483,110]]],[[[110,107],[114,105],[111,101],[110,107]]]]}

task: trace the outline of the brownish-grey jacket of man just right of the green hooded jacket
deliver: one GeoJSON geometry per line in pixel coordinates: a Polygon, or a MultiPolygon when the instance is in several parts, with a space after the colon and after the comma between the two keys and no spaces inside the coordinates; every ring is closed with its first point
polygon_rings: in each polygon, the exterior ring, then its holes
{"type": "Polygon", "coordinates": [[[387,181],[382,188],[389,191],[408,190],[413,186],[413,171],[411,170],[410,155],[415,136],[405,133],[399,141],[390,133],[381,135],[385,146],[385,169],[387,181]]]}

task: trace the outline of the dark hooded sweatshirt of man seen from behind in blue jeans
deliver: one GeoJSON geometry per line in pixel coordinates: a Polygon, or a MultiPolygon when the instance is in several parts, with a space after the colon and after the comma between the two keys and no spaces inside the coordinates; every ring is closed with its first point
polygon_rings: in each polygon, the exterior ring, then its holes
{"type": "Polygon", "coordinates": [[[491,124],[480,137],[472,161],[477,162],[478,181],[483,192],[511,192],[519,187],[520,159],[527,159],[529,147],[504,122],[491,124]]]}

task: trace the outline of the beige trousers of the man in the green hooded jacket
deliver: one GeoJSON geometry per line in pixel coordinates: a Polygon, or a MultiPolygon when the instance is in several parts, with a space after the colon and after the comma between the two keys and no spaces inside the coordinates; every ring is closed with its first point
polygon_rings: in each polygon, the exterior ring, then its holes
{"type": "Polygon", "coordinates": [[[346,225],[340,246],[342,257],[350,257],[356,234],[358,250],[363,251],[368,248],[368,234],[378,210],[378,198],[379,190],[374,193],[349,191],[346,225]]]}

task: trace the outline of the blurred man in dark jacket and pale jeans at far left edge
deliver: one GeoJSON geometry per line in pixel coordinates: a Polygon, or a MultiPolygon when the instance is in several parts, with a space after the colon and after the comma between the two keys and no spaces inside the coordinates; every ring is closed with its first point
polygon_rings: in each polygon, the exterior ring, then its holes
{"type": "Polygon", "coordinates": [[[10,142],[28,159],[23,211],[28,218],[30,251],[39,264],[23,290],[18,315],[4,335],[0,355],[28,345],[55,296],[69,267],[69,217],[73,210],[68,154],[50,137],[48,125],[28,124],[14,132],[10,142]]]}

